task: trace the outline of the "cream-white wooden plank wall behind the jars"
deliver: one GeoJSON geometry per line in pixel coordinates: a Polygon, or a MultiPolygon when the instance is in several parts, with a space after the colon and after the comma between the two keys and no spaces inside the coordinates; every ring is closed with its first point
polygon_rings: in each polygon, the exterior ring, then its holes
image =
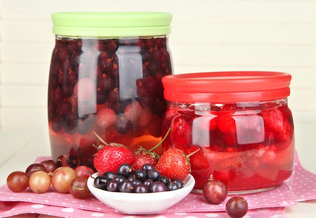
{"type": "Polygon", "coordinates": [[[316,0],[0,0],[0,128],[47,127],[48,69],[63,11],[164,11],[176,74],[292,74],[295,120],[316,120],[316,0]]]}

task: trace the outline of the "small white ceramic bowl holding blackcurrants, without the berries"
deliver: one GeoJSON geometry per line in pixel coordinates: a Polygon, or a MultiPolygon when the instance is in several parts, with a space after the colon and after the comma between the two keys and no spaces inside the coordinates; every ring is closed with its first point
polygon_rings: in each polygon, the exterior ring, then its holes
{"type": "MultiPolygon", "coordinates": [[[[95,173],[92,176],[99,176],[95,173]]],[[[184,187],[174,191],[156,193],[122,193],[98,189],[93,185],[93,179],[88,178],[88,188],[91,193],[104,204],[127,214],[155,214],[161,213],[175,205],[187,196],[195,184],[194,178],[189,174],[184,181],[184,187]]]]}

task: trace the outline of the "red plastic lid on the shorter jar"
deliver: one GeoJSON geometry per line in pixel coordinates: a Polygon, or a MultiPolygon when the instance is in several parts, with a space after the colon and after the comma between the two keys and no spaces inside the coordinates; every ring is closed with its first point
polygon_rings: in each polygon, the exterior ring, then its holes
{"type": "Polygon", "coordinates": [[[166,100],[224,103],[288,97],[291,79],[286,72],[220,71],[170,75],[162,82],[166,100]]]}

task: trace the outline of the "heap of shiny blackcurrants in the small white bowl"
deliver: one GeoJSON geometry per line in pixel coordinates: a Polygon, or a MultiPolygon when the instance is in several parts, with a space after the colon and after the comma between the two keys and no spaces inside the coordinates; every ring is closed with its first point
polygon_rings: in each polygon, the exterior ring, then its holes
{"type": "Polygon", "coordinates": [[[94,186],[113,192],[151,193],[177,190],[183,188],[184,183],[161,175],[151,164],[136,170],[129,164],[122,164],[117,173],[108,171],[94,178],[94,186]]]}

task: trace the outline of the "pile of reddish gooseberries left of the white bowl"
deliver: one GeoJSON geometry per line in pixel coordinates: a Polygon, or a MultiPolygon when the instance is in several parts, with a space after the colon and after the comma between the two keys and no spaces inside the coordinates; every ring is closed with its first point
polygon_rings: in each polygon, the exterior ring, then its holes
{"type": "Polygon", "coordinates": [[[52,186],[60,193],[70,193],[75,198],[86,198],[90,195],[87,187],[89,174],[93,170],[86,166],[76,169],[59,167],[52,160],[29,165],[25,171],[14,171],[7,177],[8,188],[16,193],[28,187],[34,193],[45,193],[52,186]]]}

